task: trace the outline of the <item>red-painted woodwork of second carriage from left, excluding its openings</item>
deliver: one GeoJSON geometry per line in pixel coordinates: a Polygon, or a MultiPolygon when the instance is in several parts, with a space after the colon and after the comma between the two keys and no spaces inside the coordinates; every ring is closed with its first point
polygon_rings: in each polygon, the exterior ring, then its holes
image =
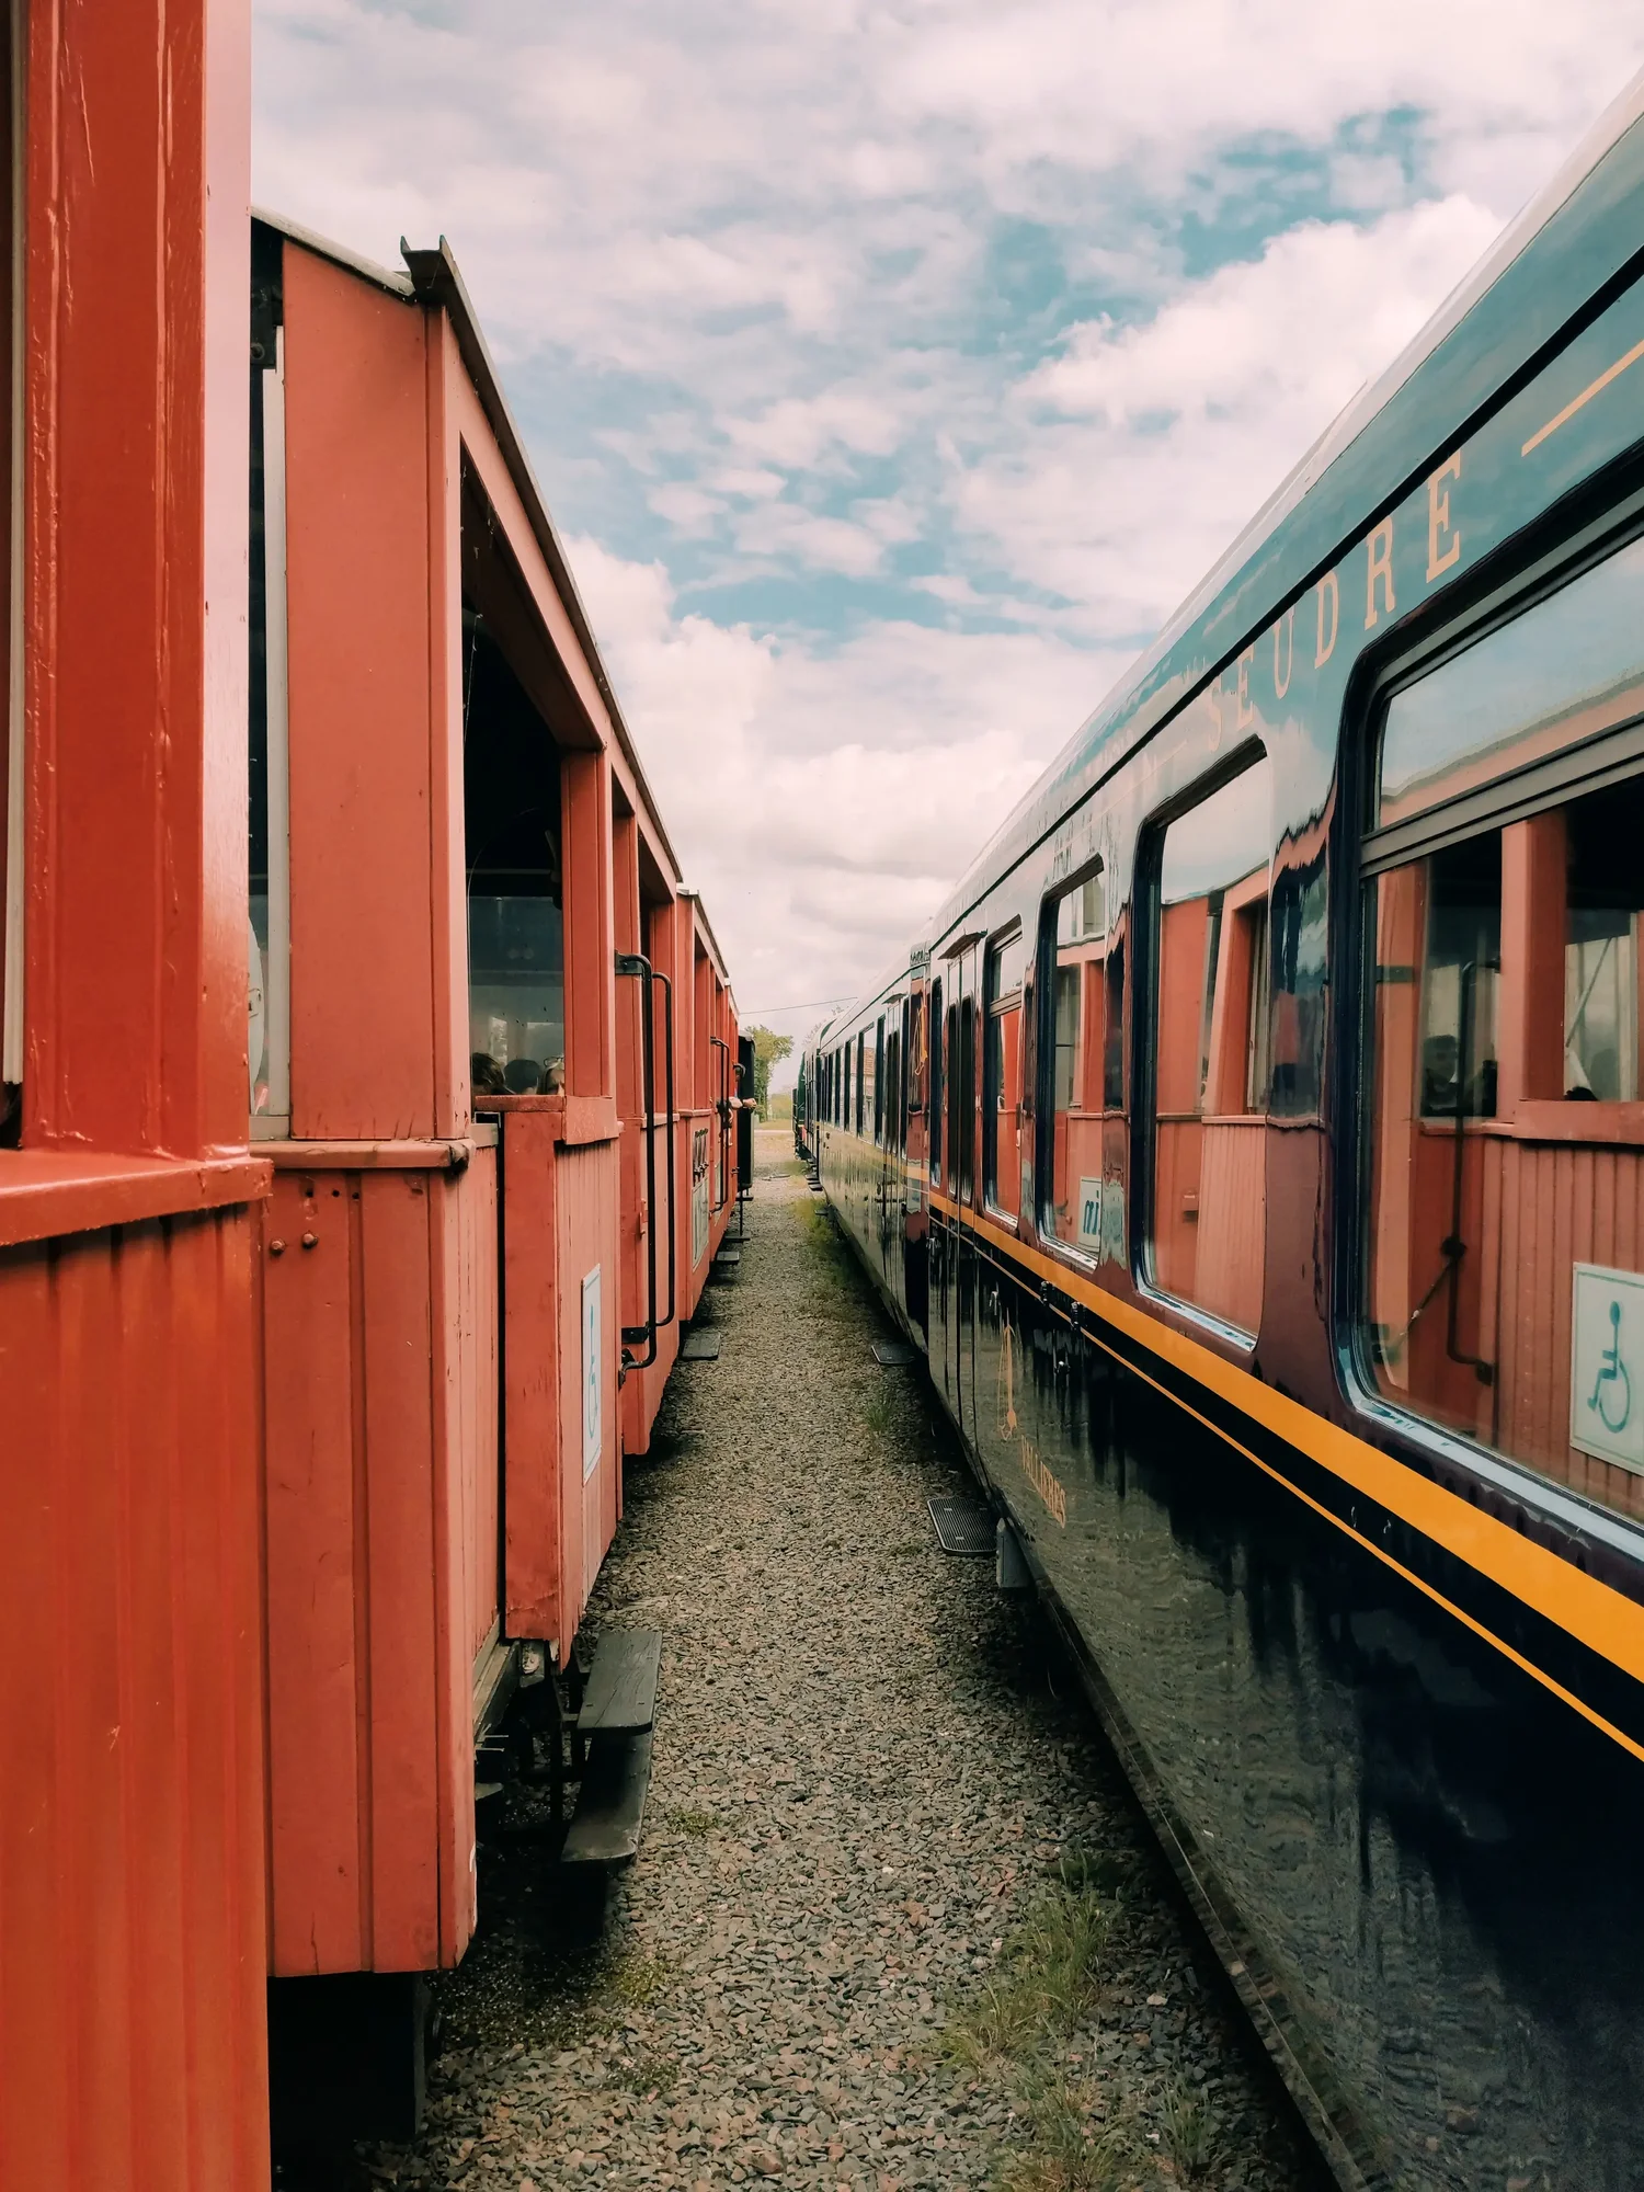
{"type": "MultiPolygon", "coordinates": [[[[660,1398],[660,1374],[618,1379],[620,1326],[640,1322],[623,1199],[642,1089],[614,949],[640,932],[640,868],[666,907],[680,879],[452,318],[296,239],[283,267],[294,1140],[267,1144],[261,1228],[270,1953],[276,1975],[416,1971],[473,1929],[476,1681],[513,1640],[570,1653],[625,1440],[660,1398]],[[561,787],[566,1089],[487,1098],[495,1151],[469,1092],[465,473],[506,552],[487,614],[561,787]]],[[[669,949],[686,978],[697,951],[730,1028],[695,921],[701,945],[669,916],[669,949]]],[[[684,984],[680,1019],[688,1050],[684,984]]],[[[688,1192],[686,1149],[686,1258],[688,1192]]],[[[682,1313],[704,1271],[682,1274],[682,1313]]],[[[675,1346],[662,1335],[658,1368],[675,1346]]]]}

